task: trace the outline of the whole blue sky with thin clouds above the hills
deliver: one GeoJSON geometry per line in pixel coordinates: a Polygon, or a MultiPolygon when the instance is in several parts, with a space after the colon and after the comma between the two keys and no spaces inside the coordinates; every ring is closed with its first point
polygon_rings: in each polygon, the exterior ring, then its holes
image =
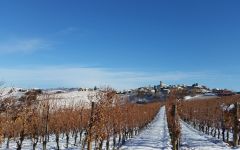
{"type": "Polygon", "coordinates": [[[240,2],[2,0],[0,79],[20,87],[199,82],[240,90],[240,2]]]}

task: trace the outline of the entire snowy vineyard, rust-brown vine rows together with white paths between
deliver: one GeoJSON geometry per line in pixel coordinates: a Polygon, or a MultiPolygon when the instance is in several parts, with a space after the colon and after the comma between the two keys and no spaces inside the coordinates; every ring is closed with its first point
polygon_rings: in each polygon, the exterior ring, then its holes
{"type": "Polygon", "coordinates": [[[184,100],[185,91],[172,90],[165,102],[143,104],[111,88],[89,94],[88,102],[66,95],[4,98],[0,149],[219,150],[240,144],[239,95],[184,100]]]}

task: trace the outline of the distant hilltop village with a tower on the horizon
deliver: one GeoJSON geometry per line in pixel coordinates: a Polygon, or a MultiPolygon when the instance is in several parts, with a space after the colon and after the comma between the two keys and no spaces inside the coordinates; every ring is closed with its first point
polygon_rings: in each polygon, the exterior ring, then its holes
{"type": "Polygon", "coordinates": [[[146,103],[155,100],[166,100],[171,90],[182,90],[185,92],[185,100],[190,99],[209,99],[221,96],[231,96],[239,94],[228,89],[210,89],[205,85],[194,83],[192,85],[167,85],[160,81],[159,85],[140,87],[128,91],[123,91],[121,94],[127,94],[130,100],[137,103],[146,103]]]}

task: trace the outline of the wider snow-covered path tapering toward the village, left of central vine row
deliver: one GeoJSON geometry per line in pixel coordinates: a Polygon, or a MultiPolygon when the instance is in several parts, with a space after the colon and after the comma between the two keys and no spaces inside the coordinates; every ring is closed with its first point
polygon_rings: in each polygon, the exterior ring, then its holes
{"type": "Polygon", "coordinates": [[[127,141],[121,150],[170,150],[171,140],[169,136],[165,106],[162,107],[156,118],[138,136],[127,141]]]}

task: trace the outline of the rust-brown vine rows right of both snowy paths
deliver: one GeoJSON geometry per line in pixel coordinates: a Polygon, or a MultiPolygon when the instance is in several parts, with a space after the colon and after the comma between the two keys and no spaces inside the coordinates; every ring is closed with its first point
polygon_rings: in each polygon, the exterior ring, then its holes
{"type": "Polygon", "coordinates": [[[240,144],[239,102],[239,95],[179,101],[178,112],[181,119],[195,129],[236,147],[240,144]]]}

